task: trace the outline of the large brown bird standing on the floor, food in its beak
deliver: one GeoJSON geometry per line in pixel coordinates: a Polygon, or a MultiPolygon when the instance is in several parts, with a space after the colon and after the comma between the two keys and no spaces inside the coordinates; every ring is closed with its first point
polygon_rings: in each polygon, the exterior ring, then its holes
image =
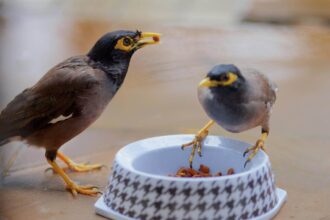
{"type": "Polygon", "coordinates": [[[132,55],[159,42],[158,33],[113,31],[98,39],[87,54],[57,64],[1,111],[0,146],[19,140],[45,148],[47,162],[73,195],[97,195],[100,190],[96,186],[71,180],[56,158],[76,172],[102,165],[75,163],[59,148],[101,115],[123,84],[132,55]]]}

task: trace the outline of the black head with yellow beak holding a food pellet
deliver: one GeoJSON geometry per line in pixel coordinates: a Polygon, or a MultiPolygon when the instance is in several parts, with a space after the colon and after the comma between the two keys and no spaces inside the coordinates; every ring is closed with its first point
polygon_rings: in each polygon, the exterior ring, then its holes
{"type": "Polygon", "coordinates": [[[141,31],[114,31],[103,35],[89,51],[88,56],[104,64],[129,61],[138,49],[158,44],[160,34],[141,31]]]}

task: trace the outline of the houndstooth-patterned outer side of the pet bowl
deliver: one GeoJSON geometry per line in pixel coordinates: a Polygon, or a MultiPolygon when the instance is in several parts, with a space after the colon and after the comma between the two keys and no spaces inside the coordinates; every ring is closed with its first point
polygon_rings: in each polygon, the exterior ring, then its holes
{"type": "Polygon", "coordinates": [[[219,181],[155,180],[114,164],[104,196],[108,207],[141,220],[250,219],[277,204],[270,163],[256,175],[219,181]]]}

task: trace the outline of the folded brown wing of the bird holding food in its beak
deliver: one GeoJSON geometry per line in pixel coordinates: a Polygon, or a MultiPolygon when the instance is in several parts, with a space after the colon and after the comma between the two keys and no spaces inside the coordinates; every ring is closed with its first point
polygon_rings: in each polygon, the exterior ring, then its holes
{"type": "Polygon", "coordinates": [[[28,136],[61,115],[79,114],[75,100],[98,84],[94,69],[84,62],[75,65],[69,59],[55,66],[1,112],[0,142],[13,136],[28,136]]]}

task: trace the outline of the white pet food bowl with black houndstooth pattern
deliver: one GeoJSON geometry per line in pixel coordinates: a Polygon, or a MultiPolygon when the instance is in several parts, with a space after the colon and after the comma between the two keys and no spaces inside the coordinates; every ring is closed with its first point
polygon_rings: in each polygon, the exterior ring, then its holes
{"type": "Polygon", "coordinates": [[[109,185],[96,212],[114,219],[271,219],[286,199],[276,189],[268,156],[259,151],[244,168],[249,144],[208,136],[200,164],[211,172],[234,175],[207,178],[170,177],[188,166],[190,149],[180,145],[193,135],[154,137],[131,143],[116,155],[109,185]]]}

